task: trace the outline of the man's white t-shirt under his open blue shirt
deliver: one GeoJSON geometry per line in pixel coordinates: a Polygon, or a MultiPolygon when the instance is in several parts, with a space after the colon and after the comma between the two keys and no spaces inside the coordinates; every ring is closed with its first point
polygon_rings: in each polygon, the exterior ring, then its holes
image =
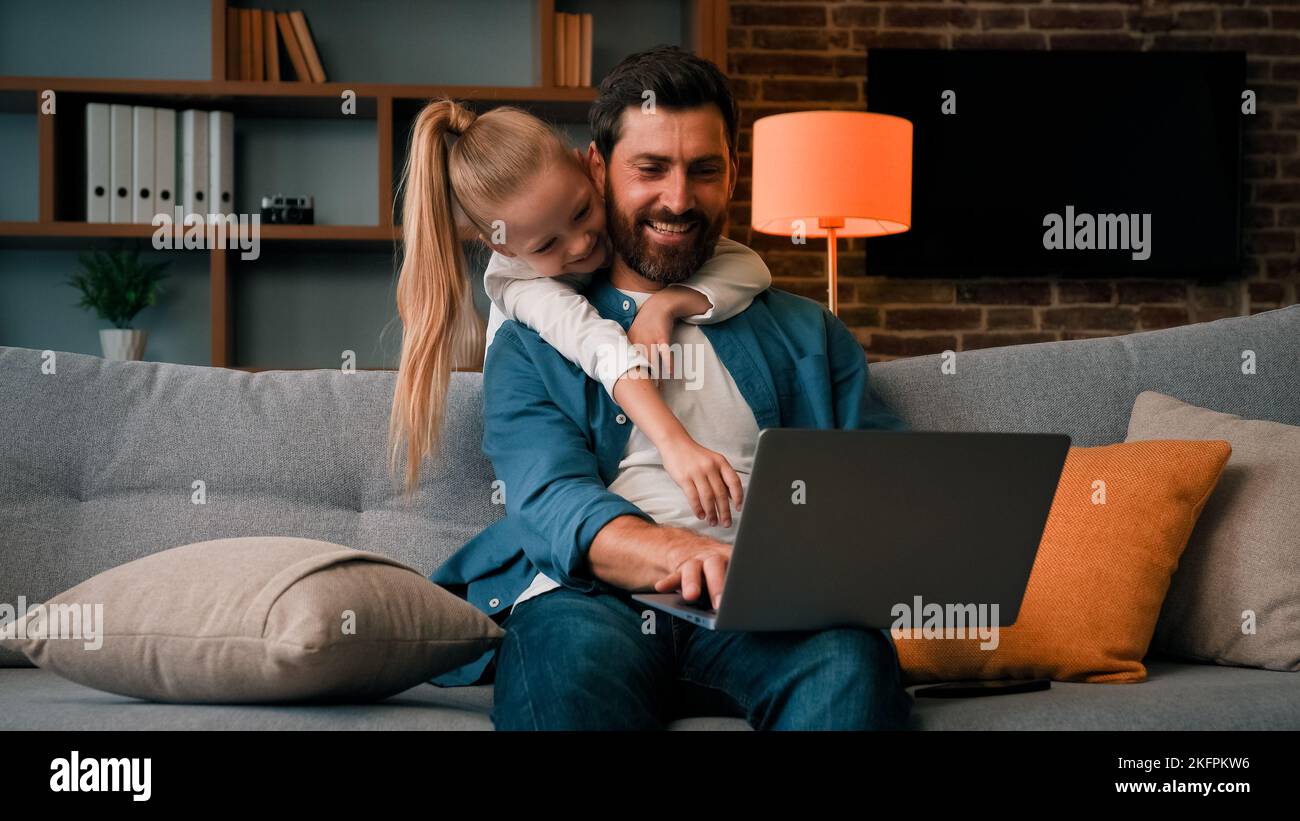
{"type": "MultiPolygon", "coordinates": [[[[641,291],[623,292],[634,299],[638,308],[651,296],[641,291]]],[[[748,491],[754,448],[758,444],[754,412],[698,325],[677,322],[671,342],[681,346],[681,359],[675,361],[673,372],[681,373],[684,378],[660,382],[659,392],[664,404],[696,442],[727,457],[748,491]]],[[[645,511],[659,525],[688,527],[728,544],[736,540],[740,512],[732,511],[731,527],[710,527],[706,521],[696,518],[685,494],[664,470],[659,449],[636,426],[628,435],[628,447],[623,451],[619,473],[610,483],[610,490],[645,511]]],[[[511,612],[520,601],[559,586],[559,582],[538,573],[533,583],[515,599],[511,612]]]]}

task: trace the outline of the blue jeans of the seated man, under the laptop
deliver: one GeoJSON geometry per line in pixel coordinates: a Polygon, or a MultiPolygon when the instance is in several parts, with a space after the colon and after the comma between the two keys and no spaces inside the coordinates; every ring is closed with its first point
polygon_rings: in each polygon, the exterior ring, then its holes
{"type": "Polygon", "coordinates": [[[498,730],[659,730],[718,714],[757,730],[904,729],[913,704],[885,630],[716,631],[569,587],[524,600],[503,627],[498,730]]]}

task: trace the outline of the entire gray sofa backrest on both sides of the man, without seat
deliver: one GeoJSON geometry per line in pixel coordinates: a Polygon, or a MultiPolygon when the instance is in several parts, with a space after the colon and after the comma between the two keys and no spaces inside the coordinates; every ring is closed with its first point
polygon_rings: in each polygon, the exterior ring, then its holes
{"type": "MultiPolygon", "coordinates": [[[[410,508],[387,478],[390,372],[250,374],[0,347],[0,603],[46,599],[150,553],[295,535],[432,573],[502,514],[481,452],[481,377],[454,374],[443,449],[410,508]],[[204,504],[195,504],[196,482],[204,504]]],[[[915,430],[1067,433],[1121,442],[1156,390],[1300,425],[1300,305],[1127,336],[871,366],[915,430]],[[1251,349],[1256,373],[1242,373],[1251,349]]],[[[0,651],[0,665],[23,664],[0,651]]]]}

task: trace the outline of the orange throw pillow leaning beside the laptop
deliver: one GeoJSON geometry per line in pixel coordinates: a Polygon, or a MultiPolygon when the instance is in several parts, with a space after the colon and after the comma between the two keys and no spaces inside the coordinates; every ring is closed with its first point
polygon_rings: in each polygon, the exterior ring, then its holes
{"type": "Polygon", "coordinates": [[[1145,681],[1169,579],[1231,452],[1222,439],[1070,448],[1015,624],[998,627],[992,650],[971,627],[965,638],[896,631],[904,685],[1145,681]]]}

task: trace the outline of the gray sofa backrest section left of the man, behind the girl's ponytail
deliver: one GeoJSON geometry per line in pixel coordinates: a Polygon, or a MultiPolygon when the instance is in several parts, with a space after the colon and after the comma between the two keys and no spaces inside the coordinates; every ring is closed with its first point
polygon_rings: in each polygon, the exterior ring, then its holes
{"type": "MultiPolygon", "coordinates": [[[[502,516],[480,374],[452,374],[442,452],[407,507],[386,469],[390,372],[44,361],[0,347],[0,603],[30,607],[157,551],[240,535],[322,539],[432,573],[502,516]]],[[[0,651],[5,663],[17,660],[0,651]]]]}

